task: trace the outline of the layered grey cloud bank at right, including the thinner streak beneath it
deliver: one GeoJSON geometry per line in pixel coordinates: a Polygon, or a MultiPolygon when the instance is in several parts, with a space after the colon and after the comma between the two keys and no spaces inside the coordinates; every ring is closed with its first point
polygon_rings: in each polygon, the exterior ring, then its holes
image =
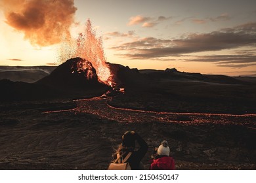
{"type": "Polygon", "coordinates": [[[137,38],[112,47],[122,52],[119,56],[129,59],[168,59],[170,56],[184,56],[196,52],[219,51],[251,46],[234,55],[193,56],[182,61],[212,62],[221,67],[249,67],[256,63],[256,22],[221,29],[211,33],[190,33],[180,39],[137,38]]]}

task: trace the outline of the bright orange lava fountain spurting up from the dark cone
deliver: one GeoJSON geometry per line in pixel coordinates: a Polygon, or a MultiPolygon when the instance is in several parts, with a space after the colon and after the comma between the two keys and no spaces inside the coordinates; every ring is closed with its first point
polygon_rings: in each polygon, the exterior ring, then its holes
{"type": "Polygon", "coordinates": [[[79,71],[89,69],[87,68],[87,61],[90,61],[96,70],[98,81],[112,87],[114,86],[113,75],[104,56],[102,37],[96,37],[96,31],[92,28],[89,19],[87,20],[84,33],[79,33],[76,40],[64,40],[60,52],[60,61],[64,61],[70,57],[83,58],[83,63],[77,65],[79,71]]]}

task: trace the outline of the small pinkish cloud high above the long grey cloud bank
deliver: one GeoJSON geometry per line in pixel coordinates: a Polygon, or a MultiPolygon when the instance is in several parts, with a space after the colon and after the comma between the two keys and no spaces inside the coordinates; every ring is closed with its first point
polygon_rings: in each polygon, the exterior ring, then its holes
{"type": "Polygon", "coordinates": [[[132,16],[129,18],[129,23],[127,25],[139,25],[142,24],[142,27],[154,27],[158,25],[160,22],[171,19],[172,17],[158,16],[158,18],[146,17],[146,16],[132,16]]]}

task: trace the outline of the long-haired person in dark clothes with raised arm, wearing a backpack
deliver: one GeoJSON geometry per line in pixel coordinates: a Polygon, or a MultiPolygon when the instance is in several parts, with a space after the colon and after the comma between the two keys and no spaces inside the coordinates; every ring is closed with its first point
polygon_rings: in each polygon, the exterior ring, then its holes
{"type": "Polygon", "coordinates": [[[119,145],[116,152],[113,154],[114,161],[116,162],[117,156],[125,159],[125,157],[131,152],[129,158],[127,159],[127,163],[129,163],[132,170],[144,169],[141,159],[145,156],[148,151],[148,144],[140,137],[138,133],[135,131],[126,131],[122,136],[122,143],[119,145]],[[140,148],[139,150],[135,150],[135,141],[138,142],[140,148]]]}

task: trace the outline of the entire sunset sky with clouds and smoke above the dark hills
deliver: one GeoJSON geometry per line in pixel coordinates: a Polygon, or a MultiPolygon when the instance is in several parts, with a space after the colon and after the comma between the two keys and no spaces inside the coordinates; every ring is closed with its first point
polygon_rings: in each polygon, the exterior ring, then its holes
{"type": "Polygon", "coordinates": [[[0,0],[0,65],[58,65],[88,19],[110,63],[256,74],[255,0],[0,0]]]}

